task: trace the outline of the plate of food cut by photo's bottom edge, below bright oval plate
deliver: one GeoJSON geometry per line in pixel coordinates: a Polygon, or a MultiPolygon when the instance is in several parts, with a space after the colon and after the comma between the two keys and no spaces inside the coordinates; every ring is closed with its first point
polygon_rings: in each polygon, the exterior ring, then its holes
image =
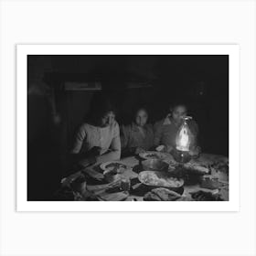
{"type": "Polygon", "coordinates": [[[144,196],[144,201],[176,201],[181,196],[165,187],[152,189],[144,196]]]}

